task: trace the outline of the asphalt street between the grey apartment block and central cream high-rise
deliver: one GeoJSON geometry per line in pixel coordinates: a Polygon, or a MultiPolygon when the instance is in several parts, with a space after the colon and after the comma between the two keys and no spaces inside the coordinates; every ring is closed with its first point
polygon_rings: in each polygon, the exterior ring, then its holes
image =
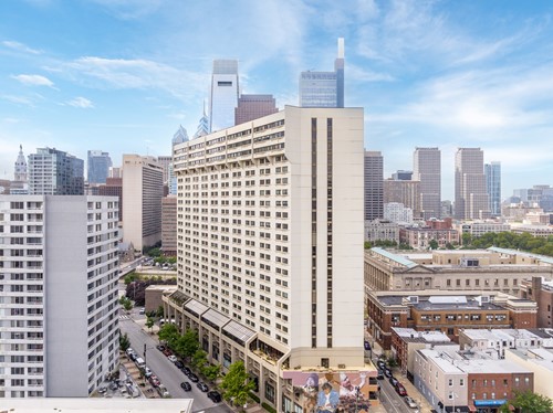
{"type": "MultiPolygon", "coordinates": [[[[134,311],[136,313],[136,309],[134,311]]],[[[174,363],[167,360],[167,357],[156,349],[158,342],[144,331],[140,326],[133,320],[133,317],[139,316],[131,314],[128,318],[123,317],[119,319],[121,332],[126,332],[128,335],[131,347],[145,359],[146,364],[167,388],[173,399],[194,399],[192,409],[195,412],[206,410],[225,413],[231,412],[225,403],[213,403],[209,400],[206,393],[196,386],[196,383],[191,383],[174,363]],[[144,345],[146,345],[146,357],[144,357],[144,345]],[[190,382],[192,390],[188,392],[184,391],[180,388],[182,381],[190,382]]]]}

